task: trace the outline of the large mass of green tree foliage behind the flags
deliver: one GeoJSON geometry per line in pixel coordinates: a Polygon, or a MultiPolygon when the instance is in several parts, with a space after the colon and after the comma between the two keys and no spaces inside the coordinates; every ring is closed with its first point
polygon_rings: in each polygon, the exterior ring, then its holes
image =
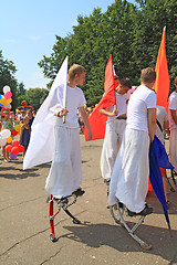
{"type": "MultiPolygon", "coordinates": [[[[54,80],[64,57],[86,67],[83,91],[88,105],[97,103],[104,92],[104,71],[110,54],[116,74],[137,85],[143,67],[155,67],[163,28],[167,26],[167,60],[170,78],[177,73],[176,0],[115,0],[105,13],[94,9],[88,17],[79,15],[77,25],[66,38],[56,36],[50,57],[39,63],[46,77],[54,80]]],[[[50,83],[51,85],[51,83],[50,83]]]]}

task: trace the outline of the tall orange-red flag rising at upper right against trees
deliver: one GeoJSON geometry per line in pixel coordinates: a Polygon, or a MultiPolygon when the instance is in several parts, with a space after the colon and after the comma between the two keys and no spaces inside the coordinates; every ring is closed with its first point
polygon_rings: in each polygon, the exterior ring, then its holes
{"type": "Polygon", "coordinates": [[[166,26],[164,28],[163,31],[162,43],[156,62],[156,82],[154,84],[154,89],[156,92],[157,105],[165,107],[167,110],[168,108],[167,100],[170,82],[166,57],[165,40],[166,40],[166,26]]]}

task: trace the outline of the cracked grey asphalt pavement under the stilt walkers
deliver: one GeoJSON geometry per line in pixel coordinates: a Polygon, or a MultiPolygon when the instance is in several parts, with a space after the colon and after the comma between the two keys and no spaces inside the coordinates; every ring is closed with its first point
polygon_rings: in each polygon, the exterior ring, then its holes
{"type": "MultiPolygon", "coordinates": [[[[144,251],[115,224],[106,209],[106,187],[100,172],[102,140],[85,142],[81,136],[83,184],[86,193],[70,208],[82,221],[75,225],[61,212],[55,218],[56,243],[49,239],[45,179],[50,163],[22,171],[22,158],[0,159],[0,264],[2,265],[114,265],[177,264],[177,192],[168,194],[173,237],[155,194],[148,197],[154,214],[137,234],[153,244],[144,251]]],[[[135,219],[131,219],[135,222],[135,219]]]]}

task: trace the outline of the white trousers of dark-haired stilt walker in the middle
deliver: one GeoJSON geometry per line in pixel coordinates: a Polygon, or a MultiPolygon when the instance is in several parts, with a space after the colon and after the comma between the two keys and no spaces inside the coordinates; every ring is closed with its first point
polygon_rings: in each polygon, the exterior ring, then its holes
{"type": "Polygon", "coordinates": [[[106,124],[105,138],[101,156],[101,171],[104,179],[111,179],[114,162],[123,140],[125,119],[115,119],[106,124]]]}

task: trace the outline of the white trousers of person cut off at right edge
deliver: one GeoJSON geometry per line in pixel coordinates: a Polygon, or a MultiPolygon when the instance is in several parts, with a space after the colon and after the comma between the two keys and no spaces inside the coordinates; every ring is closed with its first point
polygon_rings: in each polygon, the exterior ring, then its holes
{"type": "Polygon", "coordinates": [[[169,137],[169,158],[170,162],[177,171],[177,128],[170,130],[169,137]]]}

